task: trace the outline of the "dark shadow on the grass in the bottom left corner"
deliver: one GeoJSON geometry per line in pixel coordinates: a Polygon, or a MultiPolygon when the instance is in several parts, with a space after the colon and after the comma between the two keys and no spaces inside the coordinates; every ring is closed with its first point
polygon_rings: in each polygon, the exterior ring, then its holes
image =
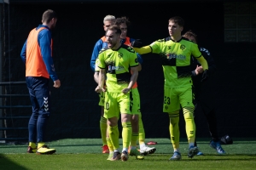
{"type": "Polygon", "coordinates": [[[0,167],[1,169],[4,170],[14,170],[14,169],[19,169],[19,170],[27,170],[26,167],[22,167],[18,164],[16,164],[14,161],[11,161],[7,158],[7,156],[4,156],[3,154],[0,154],[0,167]]]}

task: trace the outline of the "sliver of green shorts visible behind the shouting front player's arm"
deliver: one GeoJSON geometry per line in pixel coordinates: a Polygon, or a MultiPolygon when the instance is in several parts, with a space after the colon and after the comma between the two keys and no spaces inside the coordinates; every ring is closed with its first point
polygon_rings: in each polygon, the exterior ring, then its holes
{"type": "Polygon", "coordinates": [[[137,88],[131,89],[131,114],[141,116],[141,99],[137,88]]]}

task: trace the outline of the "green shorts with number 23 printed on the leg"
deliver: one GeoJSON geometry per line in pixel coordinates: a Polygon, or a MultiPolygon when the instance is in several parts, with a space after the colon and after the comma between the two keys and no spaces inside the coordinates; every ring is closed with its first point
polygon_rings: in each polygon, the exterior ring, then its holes
{"type": "Polygon", "coordinates": [[[171,113],[180,110],[183,107],[194,108],[194,98],[192,86],[181,88],[165,88],[165,97],[163,111],[171,113]]]}

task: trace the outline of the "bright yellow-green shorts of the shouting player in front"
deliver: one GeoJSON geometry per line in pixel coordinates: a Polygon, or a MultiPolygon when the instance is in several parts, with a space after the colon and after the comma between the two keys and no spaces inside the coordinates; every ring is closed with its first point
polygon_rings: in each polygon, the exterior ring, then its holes
{"type": "Polygon", "coordinates": [[[120,113],[131,114],[130,93],[105,93],[104,117],[118,117],[120,113]]]}

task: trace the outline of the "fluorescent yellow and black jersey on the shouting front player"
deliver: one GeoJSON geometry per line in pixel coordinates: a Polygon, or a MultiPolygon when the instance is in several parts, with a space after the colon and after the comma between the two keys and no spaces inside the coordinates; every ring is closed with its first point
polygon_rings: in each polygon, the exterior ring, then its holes
{"type": "Polygon", "coordinates": [[[120,93],[131,81],[130,68],[138,65],[137,54],[129,46],[122,44],[119,49],[103,48],[97,65],[106,69],[108,92],[120,93]]]}

